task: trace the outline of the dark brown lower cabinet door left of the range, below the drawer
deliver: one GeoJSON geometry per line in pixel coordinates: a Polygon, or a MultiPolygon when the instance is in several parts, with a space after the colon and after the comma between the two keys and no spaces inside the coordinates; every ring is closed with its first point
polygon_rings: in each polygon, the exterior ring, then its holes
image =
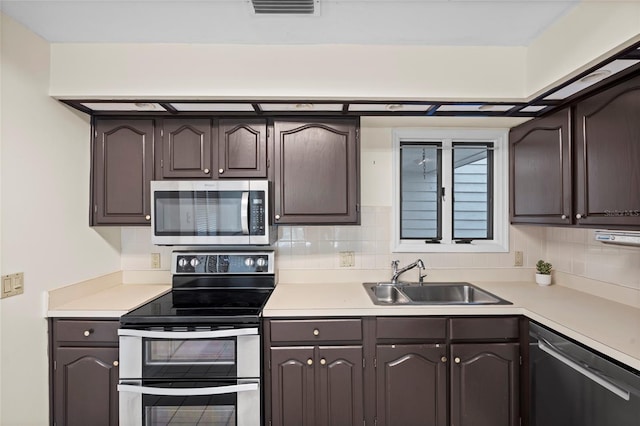
{"type": "Polygon", "coordinates": [[[57,348],[55,423],[117,426],[118,348],[57,348]]]}

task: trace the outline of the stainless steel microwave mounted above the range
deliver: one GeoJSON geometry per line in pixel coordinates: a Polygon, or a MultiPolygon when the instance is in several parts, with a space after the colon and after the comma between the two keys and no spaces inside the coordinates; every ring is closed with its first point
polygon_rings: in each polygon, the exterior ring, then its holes
{"type": "Polygon", "coordinates": [[[156,245],[269,245],[269,182],[152,181],[151,242],[156,245]]]}

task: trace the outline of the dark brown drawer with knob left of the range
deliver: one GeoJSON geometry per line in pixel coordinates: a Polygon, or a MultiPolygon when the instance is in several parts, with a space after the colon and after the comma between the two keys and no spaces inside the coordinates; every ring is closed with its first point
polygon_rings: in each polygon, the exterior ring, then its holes
{"type": "Polygon", "coordinates": [[[118,343],[120,323],[117,320],[56,320],[53,324],[54,337],[58,342],[118,343]]]}

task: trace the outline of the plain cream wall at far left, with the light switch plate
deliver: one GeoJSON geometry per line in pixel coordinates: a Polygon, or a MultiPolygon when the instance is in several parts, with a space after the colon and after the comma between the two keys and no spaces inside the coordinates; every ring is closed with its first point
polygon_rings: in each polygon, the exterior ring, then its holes
{"type": "Polygon", "coordinates": [[[0,301],[0,424],[45,425],[44,295],[119,270],[119,232],[88,226],[89,122],[48,96],[49,44],[1,19],[0,265],[25,290],[0,301]]]}

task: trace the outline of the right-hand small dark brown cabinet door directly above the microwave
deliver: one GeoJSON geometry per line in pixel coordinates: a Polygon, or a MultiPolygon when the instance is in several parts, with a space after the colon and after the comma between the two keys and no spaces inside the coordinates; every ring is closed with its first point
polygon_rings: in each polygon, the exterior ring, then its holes
{"type": "Polygon", "coordinates": [[[266,177],[266,120],[220,120],[218,178],[266,177]]]}

